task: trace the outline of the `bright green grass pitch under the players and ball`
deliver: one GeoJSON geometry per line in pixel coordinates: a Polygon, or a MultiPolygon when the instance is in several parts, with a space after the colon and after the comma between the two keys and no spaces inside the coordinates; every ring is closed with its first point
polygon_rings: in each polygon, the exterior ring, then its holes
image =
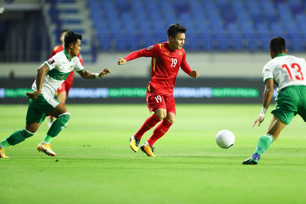
{"type": "MultiPolygon", "coordinates": [[[[52,141],[56,157],[36,151],[47,121],[6,148],[0,203],[305,203],[306,127],[299,116],[258,165],[242,165],[272,117],[251,128],[261,105],[178,104],[176,122],[154,145],[155,158],[129,148],[129,137],[149,117],[146,104],[67,108],[69,126],[52,141]],[[215,143],[222,129],[235,134],[229,149],[215,143]]],[[[0,140],[24,128],[26,111],[0,106],[0,140]]]]}

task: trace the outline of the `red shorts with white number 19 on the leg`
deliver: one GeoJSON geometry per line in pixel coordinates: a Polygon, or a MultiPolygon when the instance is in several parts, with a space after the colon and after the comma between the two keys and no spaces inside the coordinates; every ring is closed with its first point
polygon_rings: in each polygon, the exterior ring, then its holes
{"type": "Polygon", "coordinates": [[[176,115],[175,100],[173,95],[162,95],[155,92],[149,93],[147,91],[147,105],[150,113],[156,109],[166,109],[167,113],[171,112],[176,115]]]}

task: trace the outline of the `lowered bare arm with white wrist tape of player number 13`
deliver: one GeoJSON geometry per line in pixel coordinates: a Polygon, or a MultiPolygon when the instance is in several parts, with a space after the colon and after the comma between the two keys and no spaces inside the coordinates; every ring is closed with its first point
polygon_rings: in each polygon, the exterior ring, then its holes
{"type": "Polygon", "coordinates": [[[255,125],[258,122],[259,122],[258,126],[260,126],[261,122],[265,118],[266,111],[270,105],[271,98],[273,96],[273,91],[274,91],[273,82],[274,82],[274,79],[271,79],[271,78],[266,80],[265,91],[263,93],[263,107],[261,108],[261,113],[257,117],[256,121],[252,124],[252,127],[255,127],[255,125]]]}

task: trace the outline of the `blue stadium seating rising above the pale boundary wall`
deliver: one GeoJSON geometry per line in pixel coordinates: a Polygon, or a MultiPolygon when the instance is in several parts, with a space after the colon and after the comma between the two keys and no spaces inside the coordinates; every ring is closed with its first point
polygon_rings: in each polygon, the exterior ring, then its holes
{"type": "Polygon", "coordinates": [[[188,50],[267,51],[267,42],[276,35],[284,37],[291,50],[306,50],[305,1],[87,0],[87,6],[102,51],[164,42],[172,23],[188,28],[188,50]]]}

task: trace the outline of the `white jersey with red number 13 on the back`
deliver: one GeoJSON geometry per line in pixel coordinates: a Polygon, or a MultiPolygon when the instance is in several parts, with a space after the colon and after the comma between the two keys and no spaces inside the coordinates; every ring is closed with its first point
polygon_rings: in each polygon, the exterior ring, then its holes
{"type": "Polygon", "coordinates": [[[306,85],[306,62],[304,58],[279,54],[263,67],[263,81],[273,79],[277,93],[287,86],[306,85]]]}

